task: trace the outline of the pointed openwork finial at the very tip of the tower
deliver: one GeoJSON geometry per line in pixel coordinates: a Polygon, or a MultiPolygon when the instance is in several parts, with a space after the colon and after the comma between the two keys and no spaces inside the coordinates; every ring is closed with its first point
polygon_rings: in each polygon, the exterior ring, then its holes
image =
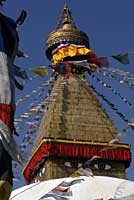
{"type": "Polygon", "coordinates": [[[61,15],[57,24],[56,29],[60,29],[61,25],[69,24],[72,28],[76,28],[75,23],[73,21],[72,13],[67,6],[67,4],[64,5],[64,8],[61,11],[61,15]]]}

